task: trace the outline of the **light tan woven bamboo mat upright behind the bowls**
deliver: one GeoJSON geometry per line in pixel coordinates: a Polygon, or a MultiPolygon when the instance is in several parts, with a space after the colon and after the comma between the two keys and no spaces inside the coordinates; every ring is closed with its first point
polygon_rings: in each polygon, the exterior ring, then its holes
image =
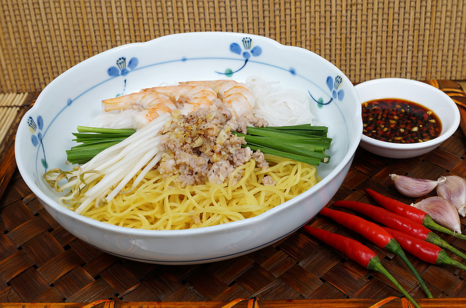
{"type": "Polygon", "coordinates": [[[352,82],[466,79],[466,0],[0,0],[0,7],[4,93],[40,91],[113,47],[200,31],[306,48],[352,82]]]}

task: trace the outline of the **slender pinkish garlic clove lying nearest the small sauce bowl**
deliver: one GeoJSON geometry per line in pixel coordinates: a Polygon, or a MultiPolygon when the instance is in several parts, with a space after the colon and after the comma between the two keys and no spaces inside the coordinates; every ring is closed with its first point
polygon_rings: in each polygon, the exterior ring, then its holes
{"type": "Polygon", "coordinates": [[[397,191],[407,197],[422,197],[429,192],[432,192],[439,183],[445,181],[445,177],[441,177],[437,181],[422,178],[410,178],[397,174],[391,174],[390,177],[397,191]]]}

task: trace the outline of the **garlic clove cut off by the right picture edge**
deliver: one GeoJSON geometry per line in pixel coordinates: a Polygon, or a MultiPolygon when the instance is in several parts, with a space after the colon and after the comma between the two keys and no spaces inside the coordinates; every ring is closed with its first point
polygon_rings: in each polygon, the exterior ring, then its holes
{"type": "Polygon", "coordinates": [[[437,194],[450,201],[463,217],[466,215],[466,180],[455,175],[445,177],[446,180],[437,186],[437,194]]]}

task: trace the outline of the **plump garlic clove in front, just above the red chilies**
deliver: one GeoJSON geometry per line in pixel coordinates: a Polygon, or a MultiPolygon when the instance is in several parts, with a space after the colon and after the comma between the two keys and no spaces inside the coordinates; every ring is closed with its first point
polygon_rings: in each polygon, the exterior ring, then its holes
{"type": "Polygon", "coordinates": [[[431,215],[432,219],[440,226],[444,226],[453,232],[461,234],[461,223],[456,207],[450,201],[442,197],[430,197],[411,204],[415,208],[423,210],[431,215]]]}

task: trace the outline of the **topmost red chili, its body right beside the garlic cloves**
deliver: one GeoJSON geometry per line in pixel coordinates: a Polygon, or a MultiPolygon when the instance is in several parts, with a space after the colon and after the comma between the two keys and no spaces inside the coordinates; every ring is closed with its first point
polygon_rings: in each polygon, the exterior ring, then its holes
{"type": "Polygon", "coordinates": [[[427,228],[437,230],[449,235],[453,235],[459,237],[461,239],[466,240],[466,236],[463,234],[459,234],[456,232],[452,232],[443,226],[440,226],[435,221],[433,221],[431,215],[427,214],[423,210],[420,210],[414,206],[407,205],[403,202],[397,201],[392,198],[385,197],[384,195],[379,194],[378,192],[374,192],[371,189],[366,189],[366,192],[372,197],[378,204],[382,205],[382,207],[390,212],[394,212],[400,216],[409,218],[411,220],[416,221],[418,224],[421,224],[427,228]]]}

